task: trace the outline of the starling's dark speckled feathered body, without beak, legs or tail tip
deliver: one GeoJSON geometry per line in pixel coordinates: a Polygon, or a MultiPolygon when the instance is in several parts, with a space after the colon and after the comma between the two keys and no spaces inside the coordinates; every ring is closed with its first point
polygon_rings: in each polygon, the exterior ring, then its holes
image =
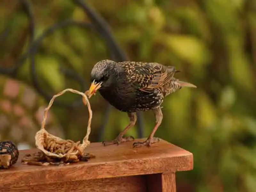
{"type": "Polygon", "coordinates": [[[179,80],[173,77],[176,69],[159,63],[103,60],[92,69],[92,80],[102,80],[95,78],[98,71],[103,80],[111,78],[110,83],[102,84],[100,94],[112,106],[124,112],[157,108],[165,96],[181,88],[179,80]],[[105,75],[102,73],[104,68],[105,75]]]}

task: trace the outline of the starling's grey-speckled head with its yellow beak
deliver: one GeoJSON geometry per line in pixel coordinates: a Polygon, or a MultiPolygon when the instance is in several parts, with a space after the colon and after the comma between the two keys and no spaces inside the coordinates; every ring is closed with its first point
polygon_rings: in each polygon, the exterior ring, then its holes
{"type": "Polygon", "coordinates": [[[91,72],[91,86],[88,91],[89,98],[97,92],[98,89],[109,86],[110,77],[116,62],[112,60],[102,60],[97,62],[91,72]]]}

